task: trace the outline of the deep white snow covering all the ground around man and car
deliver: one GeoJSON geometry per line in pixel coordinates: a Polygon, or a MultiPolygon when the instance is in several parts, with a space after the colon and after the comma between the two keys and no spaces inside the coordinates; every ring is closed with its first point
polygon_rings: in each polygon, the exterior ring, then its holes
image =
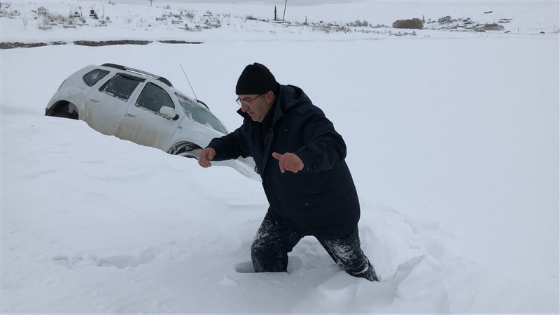
{"type": "Polygon", "coordinates": [[[560,312],[559,3],[289,2],[286,15],[300,22],[492,22],[481,20],[488,10],[514,20],[510,34],[398,37],[236,17],[272,19],[262,2],[11,2],[22,13],[104,7],[113,22],[38,31],[1,17],[2,42],[204,43],[0,50],[0,312],[560,312]],[[231,13],[230,25],[130,26],[167,5],[231,13]],[[288,274],[239,273],[267,208],[260,182],[43,116],[62,80],[87,64],[141,68],[191,94],[182,64],[233,130],[235,82],[255,61],[302,87],[343,135],[363,249],[387,281],[337,270],[313,237],[290,254],[288,274]]]}

